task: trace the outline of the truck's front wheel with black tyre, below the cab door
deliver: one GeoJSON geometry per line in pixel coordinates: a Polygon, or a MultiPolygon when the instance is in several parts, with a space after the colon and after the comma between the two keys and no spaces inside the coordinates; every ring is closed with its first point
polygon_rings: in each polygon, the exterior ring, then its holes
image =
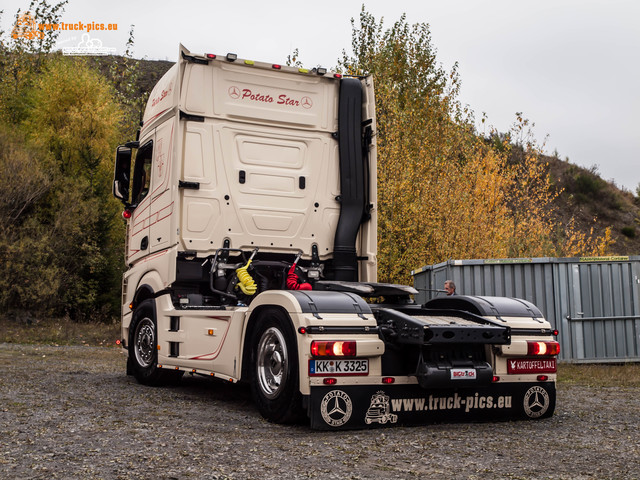
{"type": "Polygon", "coordinates": [[[183,372],[158,368],[158,327],[153,299],[144,300],[136,307],[129,332],[127,371],[139,383],[164,385],[180,379],[183,372]]]}

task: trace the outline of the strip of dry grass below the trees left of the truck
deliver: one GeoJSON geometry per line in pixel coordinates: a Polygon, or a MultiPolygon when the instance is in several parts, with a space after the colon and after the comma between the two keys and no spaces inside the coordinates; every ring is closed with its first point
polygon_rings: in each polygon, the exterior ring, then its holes
{"type": "Polygon", "coordinates": [[[0,343],[115,346],[118,338],[118,322],[75,322],[69,318],[25,321],[0,316],[0,343]]]}

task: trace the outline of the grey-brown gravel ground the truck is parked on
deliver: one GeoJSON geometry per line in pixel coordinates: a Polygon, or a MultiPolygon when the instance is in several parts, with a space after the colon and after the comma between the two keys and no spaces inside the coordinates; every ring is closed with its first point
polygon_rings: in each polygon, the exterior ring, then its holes
{"type": "Polygon", "coordinates": [[[640,388],[559,385],[554,417],[314,432],[249,389],[138,385],[116,348],[0,344],[0,478],[640,478],[640,388]]]}

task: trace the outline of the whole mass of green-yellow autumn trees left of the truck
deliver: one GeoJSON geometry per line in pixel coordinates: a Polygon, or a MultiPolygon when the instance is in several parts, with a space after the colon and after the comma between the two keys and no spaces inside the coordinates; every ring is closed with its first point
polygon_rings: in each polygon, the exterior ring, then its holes
{"type": "MultiPolygon", "coordinates": [[[[56,23],[63,6],[34,1],[30,11],[56,23]]],[[[123,271],[111,196],[123,109],[83,58],[50,51],[54,32],[1,40],[0,312],[106,319],[123,271]]]]}

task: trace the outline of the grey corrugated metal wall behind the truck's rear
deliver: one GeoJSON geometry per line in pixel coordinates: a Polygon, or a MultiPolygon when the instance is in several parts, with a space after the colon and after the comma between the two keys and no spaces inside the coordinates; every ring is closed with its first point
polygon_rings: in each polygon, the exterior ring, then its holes
{"type": "Polygon", "coordinates": [[[450,260],[414,271],[423,303],[453,280],[462,295],[533,302],[560,332],[560,359],[640,361],[640,257],[450,260]]]}

